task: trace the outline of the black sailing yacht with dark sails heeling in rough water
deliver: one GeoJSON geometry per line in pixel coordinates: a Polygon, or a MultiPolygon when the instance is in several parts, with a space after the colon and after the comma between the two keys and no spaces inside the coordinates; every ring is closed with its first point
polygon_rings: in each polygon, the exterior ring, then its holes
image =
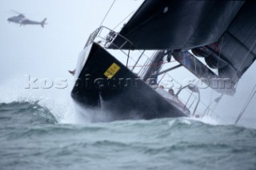
{"type": "MultiPolygon", "coordinates": [[[[198,87],[188,84],[170,96],[158,77],[184,67],[217,93],[234,95],[256,58],[254,9],[251,1],[146,0],[120,32],[100,26],[90,34],[71,96],[84,110],[104,109],[106,121],[193,116],[198,103],[192,109],[194,102],[188,105],[178,94],[190,89],[199,102],[198,87]],[[171,58],[179,64],[162,69],[171,58]]],[[[97,114],[91,117],[102,121],[97,114]]]]}

